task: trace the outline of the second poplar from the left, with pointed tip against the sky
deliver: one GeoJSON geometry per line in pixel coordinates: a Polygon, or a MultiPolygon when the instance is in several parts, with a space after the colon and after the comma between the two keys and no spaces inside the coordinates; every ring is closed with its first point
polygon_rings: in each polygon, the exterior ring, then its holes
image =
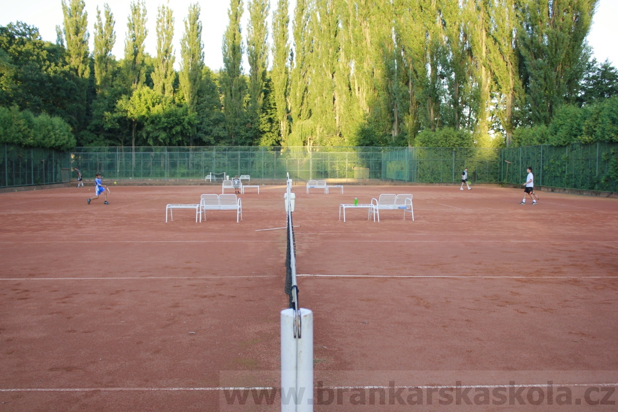
{"type": "Polygon", "coordinates": [[[116,43],[116,32],[114,32],[114,15],[105,3],[103,5],[105,22],[101,20],[101,11],[96,7],[95,22],[95,86],[97,93],[106,90],[112,81],[112,70],[116,62],[112,55],[112,49],[116,43]]]}

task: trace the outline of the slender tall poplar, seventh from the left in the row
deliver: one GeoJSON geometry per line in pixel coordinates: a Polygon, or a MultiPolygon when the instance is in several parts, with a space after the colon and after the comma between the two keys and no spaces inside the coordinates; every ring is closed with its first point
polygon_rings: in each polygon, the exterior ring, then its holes
{"type": "Polygon", "coordinates": [[[268,28],[265,16],[269,13],[268,0],[249,0],[249,25],[247,27],[247,59],[249,62],[248,121],[252,140],[259,140],[266,67],[268,66],[268,28]]]}

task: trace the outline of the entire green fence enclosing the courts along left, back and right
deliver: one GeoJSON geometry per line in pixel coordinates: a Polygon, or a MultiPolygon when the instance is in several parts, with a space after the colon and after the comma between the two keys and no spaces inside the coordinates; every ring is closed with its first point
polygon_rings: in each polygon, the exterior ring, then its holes
{"type": "Polygon", "coordinates": [[[509,148],[428,147],[76,147],[70,153],[4,145],[0,187],[85,178],[205,179],[210,173],[252,180],[372,179],[418,183],[520,184],[531,166],[536,186],[616,191],[618,144],[509,148]]]}

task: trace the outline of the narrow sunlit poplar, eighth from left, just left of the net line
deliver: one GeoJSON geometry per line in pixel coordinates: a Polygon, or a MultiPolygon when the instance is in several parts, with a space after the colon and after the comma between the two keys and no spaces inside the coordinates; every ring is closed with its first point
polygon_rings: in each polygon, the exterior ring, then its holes
{"type": "Polygon", "coordinates": [[[288,30],[290,24],[289,5],[287,0],[277,0],[277,9],[273,13],[273,100],[276,106],[276,116],[279,122],[281,141],[287,141],[290,124],[287,98],[290,93],[290,72],[288,61],[290,45],[288,30]]]}

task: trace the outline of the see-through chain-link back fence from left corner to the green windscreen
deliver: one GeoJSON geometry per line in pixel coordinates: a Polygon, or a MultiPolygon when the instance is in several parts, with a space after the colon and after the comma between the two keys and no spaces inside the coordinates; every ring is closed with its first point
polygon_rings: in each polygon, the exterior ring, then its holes
{"type": "Polygon", "coordinates": [[[382,179],[378,147],[78,147],[84,176],[111,179],[204,179],[210,173],[252,179],[382,179]]]}

